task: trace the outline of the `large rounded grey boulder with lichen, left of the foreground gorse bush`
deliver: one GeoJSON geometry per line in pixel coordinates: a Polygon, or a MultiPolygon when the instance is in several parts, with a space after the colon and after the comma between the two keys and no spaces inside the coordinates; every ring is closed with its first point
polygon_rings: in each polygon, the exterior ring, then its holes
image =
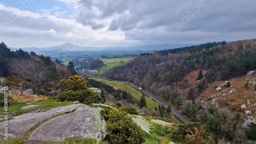
{"type": "Polygon", "coordinates": [[[103,140],[107,134],[100,109],[80,107],[74,113],[61,115],[42,124],[32,132],[30,143],[60,142],[70,139],[103,140]]]}

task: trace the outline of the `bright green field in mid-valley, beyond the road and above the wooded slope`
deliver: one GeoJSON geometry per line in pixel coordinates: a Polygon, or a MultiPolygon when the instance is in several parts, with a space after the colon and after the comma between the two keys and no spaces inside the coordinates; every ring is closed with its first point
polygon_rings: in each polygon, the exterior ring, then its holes
{"type": "Polygon", "coordinates": [[[99,74],[105,73],[106,70],[109,70],[115,66],[123,65],[129,60],[133,58],[113,58],[113,59],[101,59],[104,62],[104,66],[102,66],[99,70],[99,74]],[[121,62],[123,61],[123,62],[121,62]]]}

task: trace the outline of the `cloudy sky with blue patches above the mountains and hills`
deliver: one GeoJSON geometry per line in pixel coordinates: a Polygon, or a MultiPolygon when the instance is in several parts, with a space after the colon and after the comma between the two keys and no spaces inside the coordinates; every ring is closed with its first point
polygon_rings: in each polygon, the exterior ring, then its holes
{"type": "Polygon", "coordinates": [[[0,41],[49,47],[252,39],[255,6],[255,0],[0,0],[0,41]]]}

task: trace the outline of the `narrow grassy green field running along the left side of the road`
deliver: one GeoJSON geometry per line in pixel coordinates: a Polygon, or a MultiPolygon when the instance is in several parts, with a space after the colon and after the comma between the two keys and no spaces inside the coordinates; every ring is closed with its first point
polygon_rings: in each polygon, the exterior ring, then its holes
{"type": "MultiPolygon", "coordinates": [[[[127,85],[125,83],[116,82],[116,81],[108,81],[108,80],[103,80],[103,79],[99,79],[99,78],[92,78],[92,79],[99,81],[99,82],[103,82],[110,86],[113,86],[115,89],[120,88],[122,90],[126,90],[127,92],[131,92],[133,97],[137,100],[139,100],[141,98],[141,95],[142,95],[141,92],[139,92],[138,90],[134,89],[133,87],[131,87],[130,85],[127,85]]],[[[159,104],[157,102],[153,101],[152,99],[148,98],[146,100],[146,105],[148,108],[155,109],[155,107],[158,106],[159,104]]]]}

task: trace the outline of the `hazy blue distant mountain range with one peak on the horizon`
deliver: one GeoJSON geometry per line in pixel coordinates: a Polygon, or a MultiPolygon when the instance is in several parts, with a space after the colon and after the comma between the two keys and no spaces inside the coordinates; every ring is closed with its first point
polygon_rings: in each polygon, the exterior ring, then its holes
{"type": "Polygon", "coordinates": [[[179,47],[198,45],[195,43],[185,43],[185,44],[151,44],[151,45],[140,45],[140,46],[130,46],[130,47],[87,47],[87,46],[78,46],[72,43],[65,43],[62,45],[56,45],[51,47],[23,47],[23,48],[15,48],[9,47],[12,51],[16,51],[22,49],[24,51],[30,52],[40,52],[40,51],[58,51],[58,52],[75,52],[75,51],[159,51],[166,49],[174,49],[179,47]]]}

